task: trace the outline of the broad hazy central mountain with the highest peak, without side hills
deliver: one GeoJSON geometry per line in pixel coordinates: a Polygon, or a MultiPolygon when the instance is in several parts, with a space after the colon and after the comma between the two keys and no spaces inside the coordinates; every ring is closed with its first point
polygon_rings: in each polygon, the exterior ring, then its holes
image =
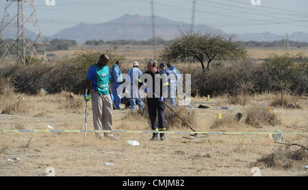
{"type": "MultiPolygon", "coordinates": [[[[223,33],[222,30],[206,25],[196,25],[196,31],[223,33]]],[[[189,31],[190,24],[170,21],[167,18],[155,16],[155,33],[164,40],[172,40],[181,32],[189,31]]],[[[50,37],[76,40],[79,43],[86,40],[149,40],[153,38],[151,16],[125,14],[120,18],[102,24],[81,23],[77,26],[62,29],[50,37]]]]}

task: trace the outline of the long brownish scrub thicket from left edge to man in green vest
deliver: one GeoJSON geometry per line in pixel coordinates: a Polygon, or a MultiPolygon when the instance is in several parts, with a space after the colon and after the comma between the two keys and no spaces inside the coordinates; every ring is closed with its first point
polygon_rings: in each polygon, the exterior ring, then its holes
{"type": "MultiPolygon", "coordinates": [[[[110,66],[116,59],[120,59],[114,51],[107,51],[106,54],[110,56],[110,66]]],[[[99,55],[101,52],[86,51],[75,59],[59,63],[3,66],[0,68],[3,75],[0,80],[14,80],[16,92],[27,94],[36,94],[41,88],[51,94],[62,90],[79,94],[85,89],[88,68],[97,62],[99,55]]]]}

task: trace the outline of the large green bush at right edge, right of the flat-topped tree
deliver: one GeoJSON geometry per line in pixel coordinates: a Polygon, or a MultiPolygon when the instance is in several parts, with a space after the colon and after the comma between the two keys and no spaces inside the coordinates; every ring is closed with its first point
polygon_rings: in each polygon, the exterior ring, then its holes
{"type": "Polygon", "coordinates": [[[301,54],[270,55],[254,74],[261,92],[308,93],[308,57],[301,54]]]}

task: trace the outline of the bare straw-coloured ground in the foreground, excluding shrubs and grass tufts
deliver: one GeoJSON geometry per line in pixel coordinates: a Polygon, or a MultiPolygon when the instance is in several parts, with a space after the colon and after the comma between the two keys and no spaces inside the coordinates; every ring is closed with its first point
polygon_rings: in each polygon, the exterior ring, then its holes
{"type": "MultiPolygon", "coordinates": [[[[77,99],[82,100],[81,96],[77,99]]],[[[255,96],[254,104],[267,104],[268,96],[255,96]]],[[[10,101],[10,99],[3,100],[10,101]]],[[[83,129],[84,104],[66,107],[63,94],[25,96],[24,113],[0,114],[0,129],[83,129]]],[[[235,110],[218,109],[219,97],[206,101],[194,98],[192,103],[208,105],[210,109],[196,109],[196,131],[231,132],[303,132],[308,130],[307,97],[300,100],[302,109],[273,108],[282,124],[277,126],[238,126],[210,128],[217,117],[243,113],[245,107],[235,110]]],[[[0,104],[0,111],[3,109],[0,104]]],[[[124,107],[124,105],[123,105],[124,107]]],[[[92,110],[89,107],[88,129],[93,129],[92,110]]],[[[144,118],[125,119],[128,110],[113,112],[116,130],[149,130],[144,118]]],[[[171,128],[170,131],[190,131],[171,128]]],[[[167,134],[166,141],[149,141],[151,134],[116,134],[118,141],[97,139],[88,133],[0,133],[0,176],[46,176],[45,169],[53,167],[55,176],[252,176],[251,168],[257,159],[279,148],[269,135],[209,135],[200,139],[183,139],[183,135],[167,134]],[[137,140],[140,146],[130,146],[128,140],[137,140]],[[19,158],[21,161],[8,161],[19,158]],[[114,165],[106,165],[112,163],[114,165]]],[[[288,141],[307,145],[307,135],[285,135],[288,141]]],[[[261,176],[307,176],[304,166],[260,167],[261,176]]]]}

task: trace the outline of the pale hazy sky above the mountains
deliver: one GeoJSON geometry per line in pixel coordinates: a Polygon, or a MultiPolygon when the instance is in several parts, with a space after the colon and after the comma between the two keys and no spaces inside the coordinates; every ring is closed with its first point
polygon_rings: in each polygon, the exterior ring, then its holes
{"type": "MultiPolygon", "coordinates": [[[[193,0],[154,0],[156,16],[191,22],[193,0]]],[[[307,0],[196,0],[196,24],[222,29],[226,33],[308,33],[307,0]]],[[[6,1],[0,1],[3,16],[6,1]]],[[[151,15],[150,0],[34,0],[42,33],[50,36],[79,23],[105,23],[123,14],[151,15]]]]}

